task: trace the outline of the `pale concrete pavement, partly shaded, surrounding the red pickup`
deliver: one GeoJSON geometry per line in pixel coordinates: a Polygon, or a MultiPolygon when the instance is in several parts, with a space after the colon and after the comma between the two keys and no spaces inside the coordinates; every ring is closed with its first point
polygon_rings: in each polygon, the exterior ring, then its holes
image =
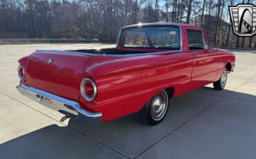
{"type": "Polygon", "coordinates": [[[17,59],[36,49],[102,44],[0,46],[0,158],[255,158],[256,53],[237,52],[226,90],[212,85],[172,99],[163,123],[138,114],[92,127],[17,93],[17,59]]]}

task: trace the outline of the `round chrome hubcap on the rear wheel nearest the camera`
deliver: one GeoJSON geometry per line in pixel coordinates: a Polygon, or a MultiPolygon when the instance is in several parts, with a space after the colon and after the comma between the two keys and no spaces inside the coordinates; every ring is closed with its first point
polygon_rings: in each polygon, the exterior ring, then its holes
{"type": "Polygon", "coordinates": [[[167,94],[164,91],[159,92],[151,102],[151,114],[154,120],[161,120],[167,110],[167,94]]]}

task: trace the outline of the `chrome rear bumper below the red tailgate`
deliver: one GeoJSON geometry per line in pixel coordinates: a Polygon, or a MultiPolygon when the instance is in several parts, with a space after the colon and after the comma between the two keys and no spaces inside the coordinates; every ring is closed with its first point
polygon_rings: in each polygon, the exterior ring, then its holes
{"type": "Polygon", "coordinates": [[[80,107],[78,102],[73,100],[67,100],[64,97],[53,95],[46,91],[42,91],[31,86],[26,86],[21,84],[16,86],[17,90],[21,95],[24,95],[31,100],[39,102],[40,104],[47,106],[55,111],[59,111],[65,115],[71,115],[80,120],[84,120],[89,124],[98,125],[102,118],[102,113],[93,113],[91,111],[86,111],[80,107]]]}

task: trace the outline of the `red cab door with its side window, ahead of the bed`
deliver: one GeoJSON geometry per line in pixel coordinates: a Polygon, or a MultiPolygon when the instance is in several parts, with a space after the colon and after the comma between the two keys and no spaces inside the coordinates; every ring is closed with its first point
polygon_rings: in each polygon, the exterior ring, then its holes
{"type": "Polygon", "coordinates": [[[199,88],[214,81],[217,71],[217,55],[210,49],[199,28],[187,28],[188,49],[193,55],[191,88],[199,88]]]}

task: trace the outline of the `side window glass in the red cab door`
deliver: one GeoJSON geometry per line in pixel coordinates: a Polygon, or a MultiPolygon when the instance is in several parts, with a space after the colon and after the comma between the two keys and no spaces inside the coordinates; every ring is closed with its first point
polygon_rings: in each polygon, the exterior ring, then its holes
{"type": "Polygon", "coordinates": [[[188,47],[190,50],[203,50],[203,35],[200,30],[187,30],[188,47]]]}

